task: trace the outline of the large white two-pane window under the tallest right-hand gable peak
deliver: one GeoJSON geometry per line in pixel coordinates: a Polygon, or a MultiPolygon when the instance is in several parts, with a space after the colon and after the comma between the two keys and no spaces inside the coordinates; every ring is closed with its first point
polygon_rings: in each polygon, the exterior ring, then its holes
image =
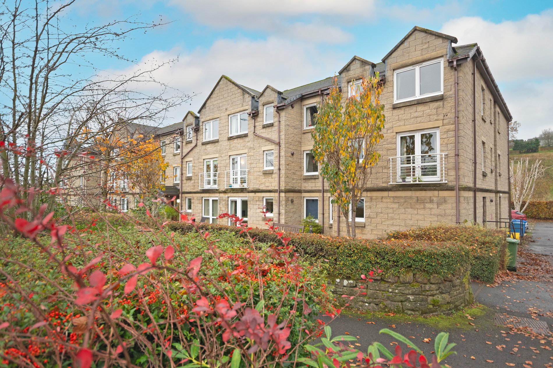
{"type": "Polygon", "coordinates": [[[394,70],[394,102],[444,93],[444,58],[394,70]]]}

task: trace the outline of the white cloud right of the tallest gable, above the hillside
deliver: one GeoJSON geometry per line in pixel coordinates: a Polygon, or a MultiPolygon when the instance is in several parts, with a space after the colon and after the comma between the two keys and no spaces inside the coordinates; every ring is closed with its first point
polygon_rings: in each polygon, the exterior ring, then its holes
{"type": "Polygon", "coordinates": [[[462,17],[440,31],[456,36],[459,45],[478,43],[513,119],[521,123],[519,138],[553,127],[553,10],[501,23],[462,17]]]}

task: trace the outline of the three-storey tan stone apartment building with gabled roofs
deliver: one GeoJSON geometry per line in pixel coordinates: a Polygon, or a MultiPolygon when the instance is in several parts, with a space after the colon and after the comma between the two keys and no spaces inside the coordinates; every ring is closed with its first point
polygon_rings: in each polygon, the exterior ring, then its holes
{"type": "MultiPolygon", "coordinates": [[[[512,116],[478,45],[456,43],[414,27],[381,62],[354,56],[336,76],[344,99],[352,81],[378,72],[383,83],[382,157],[357,208],[358,235],[509,217],[512,116]]],[[[211,223],[235,213],[254,227],[312,215],[325,234],[346,235],[310,154],[316,103],[332,78],[257,91],[222,76],[184,118],[181,210],[211,223]]]]}

